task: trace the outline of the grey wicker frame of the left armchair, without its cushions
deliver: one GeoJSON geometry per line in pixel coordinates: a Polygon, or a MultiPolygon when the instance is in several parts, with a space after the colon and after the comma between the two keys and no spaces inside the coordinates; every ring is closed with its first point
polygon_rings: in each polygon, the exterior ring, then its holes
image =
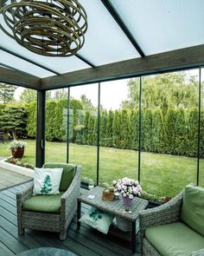
{"type": "MultiPolygon", "coordinates": [[[[61,167],[61,166],[60,166],[61,167]]],[[[60,213],[41,213],[24,211],[22,204],[32,196],[33,182],[16,194],[18,234],[24,234],[24,228],[60,233],[60,240],[67,237],[67,227],[73,219],[77,209],[77,197],[80,194],[80,171],[76,171],[71,185],[61,195],[60,213]]]]}

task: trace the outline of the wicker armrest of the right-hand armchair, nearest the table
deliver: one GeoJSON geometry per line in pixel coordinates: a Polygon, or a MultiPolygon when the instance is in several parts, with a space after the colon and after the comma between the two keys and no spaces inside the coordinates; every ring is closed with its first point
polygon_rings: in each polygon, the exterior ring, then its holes
{"type": "Polygon", "coordinates": [[[141,237],[144,236],[148,226],[158,226],[179,220],[182,207],[183,192],[176,195],[163,206],[143,210],[139,213],[139,225],[141,237]]]}

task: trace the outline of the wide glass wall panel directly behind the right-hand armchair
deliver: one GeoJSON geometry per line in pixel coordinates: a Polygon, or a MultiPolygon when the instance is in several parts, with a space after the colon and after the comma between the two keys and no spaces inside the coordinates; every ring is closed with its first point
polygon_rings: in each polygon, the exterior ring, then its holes
{"type": "Polygon", "coordinates": [[[174,196],[196,184],[199,70],[143,77],[143,189],[174,196]]]}

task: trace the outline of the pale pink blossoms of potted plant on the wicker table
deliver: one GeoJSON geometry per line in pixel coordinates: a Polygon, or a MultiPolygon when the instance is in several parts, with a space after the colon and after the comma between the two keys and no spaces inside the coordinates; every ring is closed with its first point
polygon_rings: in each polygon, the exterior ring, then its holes
{"type": "Polygon", "coordinates": [[[130,199],[142,193],[142,187],[139,185],[139,182],[127,177],[122,180],[112,181],[112,185],[115,192],[119,192],[124,197],[128,196],[130,199]]]}

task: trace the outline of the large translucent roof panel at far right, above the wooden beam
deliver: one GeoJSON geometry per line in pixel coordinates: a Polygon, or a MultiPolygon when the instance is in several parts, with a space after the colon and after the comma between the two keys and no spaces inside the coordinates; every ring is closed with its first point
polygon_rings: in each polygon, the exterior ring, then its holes
{"type": "Polygon", "coordinates": [[[204,43],[203,0],[111,0],[145,55],[204,43]]]}

